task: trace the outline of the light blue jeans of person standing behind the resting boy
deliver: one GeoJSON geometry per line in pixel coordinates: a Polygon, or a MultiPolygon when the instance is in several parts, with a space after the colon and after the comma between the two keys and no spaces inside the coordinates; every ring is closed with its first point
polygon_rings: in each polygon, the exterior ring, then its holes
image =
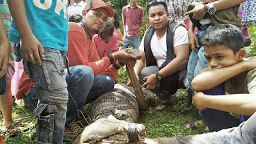
{"type": "Polygon", "coordinates": [[[212,28],[211,26],[208,27],[201,27],[201,30],[197,31],[197,38],[199,42],[199,48],[197,49],[198,51],[192,50],[190,56],[189,56],[189,61],[188,61],[188,82],[189,86],[191,87],[191,81],[193,78],[201,72],[206,66],[207,66],[207,61],[204,56],[204,45],[202,45],[202,40],[204,35],[207,33],[207,31],[212,28]]]}

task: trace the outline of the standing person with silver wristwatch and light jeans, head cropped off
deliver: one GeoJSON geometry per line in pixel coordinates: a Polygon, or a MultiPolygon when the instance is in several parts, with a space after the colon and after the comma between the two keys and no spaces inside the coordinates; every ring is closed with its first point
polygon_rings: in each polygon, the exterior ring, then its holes
{"type": "Polygon", "coordinates": [[[198,24],[193,24],[195,20],[189,23],[188,36],[189,45],[192,52],[189,55],[188,62],[188,81],[191,84],[192,79],[206,67],[204,58],[204,45],[202,38],[212,27],[219,24],[233,24],[241,28],[241,19],[237,15],[239,4],[242,1],[214,1],[202,0],[201,3],[195,3],[195,8],[186,12],[185,15],[191,15],[193,19],[199,20],[198,24]],[[207,16],[207,17],[205,17],[207,16]],[[194,33],[195,26],[198,28],[197,35],[194,33]]]}

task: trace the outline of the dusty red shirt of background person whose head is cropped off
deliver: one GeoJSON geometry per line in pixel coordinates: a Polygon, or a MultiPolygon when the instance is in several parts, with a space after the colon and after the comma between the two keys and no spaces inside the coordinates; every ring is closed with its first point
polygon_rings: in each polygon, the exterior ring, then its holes
{"type": "Polygon", "coordinates": [[[132,38],[133,34],[140,37],[141,29],[143,24],[144,12],[143,8],[136,4],[134,8],[131,8],[130,4],[123,8],[123,28],[126,38],[132,38]]]}

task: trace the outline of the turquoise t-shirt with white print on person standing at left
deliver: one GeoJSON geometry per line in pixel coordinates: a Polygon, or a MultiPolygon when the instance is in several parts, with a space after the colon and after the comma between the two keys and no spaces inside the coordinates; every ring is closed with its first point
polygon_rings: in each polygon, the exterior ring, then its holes
{"type": "MultiPolygon", "coordinates": [[[[67,2],[67,0],[24,1],[29,26],[43,47],[67,51],[67,2]]],[[[20,36],[14,22],[9,40],[20,44],[20,36]]]]}

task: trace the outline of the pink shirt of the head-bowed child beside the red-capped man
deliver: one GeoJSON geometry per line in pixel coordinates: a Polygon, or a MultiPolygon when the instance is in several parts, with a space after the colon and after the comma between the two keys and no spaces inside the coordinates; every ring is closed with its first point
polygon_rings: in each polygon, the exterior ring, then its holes
{"type": "Polygon", "coordinates": [[[109,38],[108,43],[104,42],[104,40],[102,40],[99,35],[94,35],[92,39],[96,46],[96,50],[98,52],[100,59],[104,56],[108,56],[109,51],[118,51],[118,38],[115,33],[113,33],[113,36],[109,38]]]}

